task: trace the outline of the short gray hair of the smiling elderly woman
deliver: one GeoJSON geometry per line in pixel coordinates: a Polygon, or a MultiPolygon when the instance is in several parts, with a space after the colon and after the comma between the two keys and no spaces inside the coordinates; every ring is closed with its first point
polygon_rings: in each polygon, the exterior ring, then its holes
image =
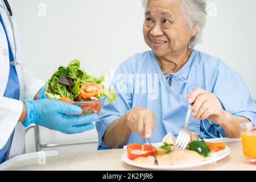
{"type": "MultiPolygon", "coordinates": [[[[150,0],[142,0],[144,9],[147,9],[150,0]]],[[[203,29],[207,19],[205,0],[181,0],[181,13],[187,19],[188,26],[193,28],[197,26],[196,35],[189,41],[188,48],[194,49],[196,44],[201,42],[203,29]]]]}

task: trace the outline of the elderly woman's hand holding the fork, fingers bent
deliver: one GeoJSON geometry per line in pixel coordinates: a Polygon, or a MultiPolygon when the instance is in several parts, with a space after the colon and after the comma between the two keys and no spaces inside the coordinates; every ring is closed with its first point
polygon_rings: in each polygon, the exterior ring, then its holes
{"type": "Polygon", "coordinates": [[[187,96],[189,104],[193,104],[192,115],[195,120],[208,119],[218,125],[225,121],[225,110],[215,94],[203,89],[192,90],[187,96]]]}

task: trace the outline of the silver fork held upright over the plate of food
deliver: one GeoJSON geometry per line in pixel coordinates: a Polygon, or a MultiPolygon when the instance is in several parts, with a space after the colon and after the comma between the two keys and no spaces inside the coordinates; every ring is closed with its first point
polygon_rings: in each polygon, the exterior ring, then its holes
{"type": "Polygon", "coordinates": [[[191,112],[192,112],[192,105],[189,104],[184,128],[180,130],[176,140],[176,146],[181,150],[184,150],[188,146],[188,142],[191,138],[188,132],[188,121],[189,121],[191,112]]]}

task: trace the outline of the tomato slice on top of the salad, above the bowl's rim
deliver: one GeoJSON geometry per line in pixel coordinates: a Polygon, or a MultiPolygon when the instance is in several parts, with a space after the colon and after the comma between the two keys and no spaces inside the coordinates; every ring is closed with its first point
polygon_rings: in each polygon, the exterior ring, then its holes
{"type": "Polygon", "coordinates": [[[102,85],[96,83],[84,84],[81,86],[80,94],[82,98],[98,96],[102,92],[102,85]]]}

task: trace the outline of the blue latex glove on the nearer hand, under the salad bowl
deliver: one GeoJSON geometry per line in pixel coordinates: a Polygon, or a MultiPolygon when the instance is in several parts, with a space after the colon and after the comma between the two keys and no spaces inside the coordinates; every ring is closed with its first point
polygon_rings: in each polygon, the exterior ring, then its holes
{"type": "Polygon", "coordinates": [[[27,117],[23,123],[25,127],[31,123],[57,130],[65,134],[76,134],[92,130],[91,122],[97,120],[97,114],[76,117],[82,109],[79,106],[66,104],[64,102],[43,99],[37,101],[23,101],[26,104],[27,117]]]}

